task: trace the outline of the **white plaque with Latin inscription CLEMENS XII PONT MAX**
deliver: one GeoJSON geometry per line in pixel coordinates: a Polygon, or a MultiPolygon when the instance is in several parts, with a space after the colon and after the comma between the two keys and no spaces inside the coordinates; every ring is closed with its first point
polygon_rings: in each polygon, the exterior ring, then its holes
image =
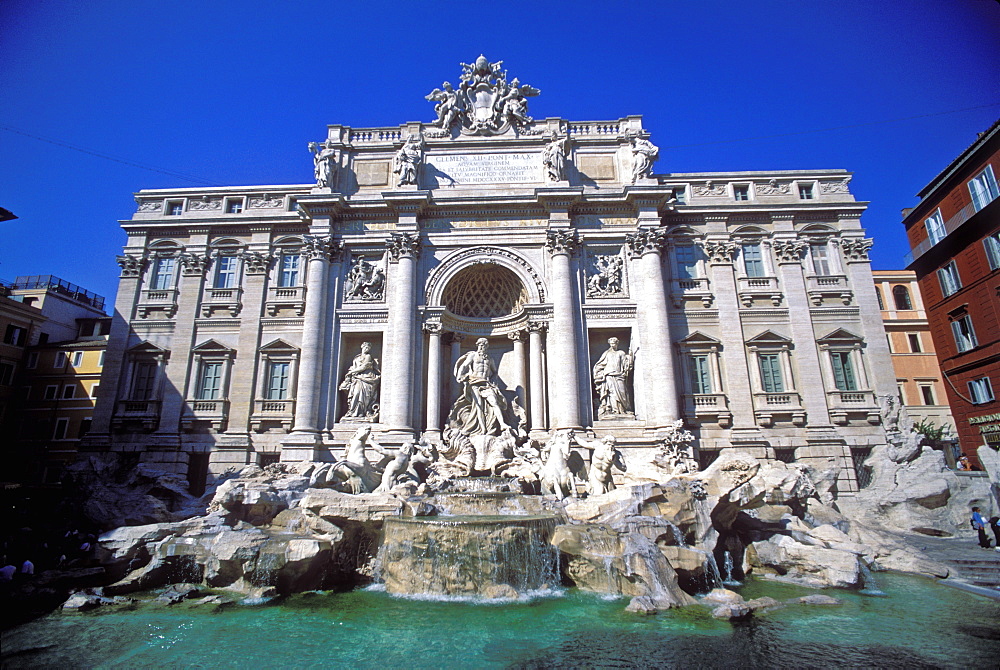
{"type": "Polygon", "coordinates": [[[536,184],[542,181],[542,157],[537,153],[429,154],[425,178],[433,186],[475,184],[536,184]]]}

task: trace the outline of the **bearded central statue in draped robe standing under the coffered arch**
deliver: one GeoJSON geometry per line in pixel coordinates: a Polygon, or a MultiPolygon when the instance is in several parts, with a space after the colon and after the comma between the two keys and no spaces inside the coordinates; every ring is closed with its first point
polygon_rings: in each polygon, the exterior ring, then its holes
{"type": "Polygon", "coordinates": [[[455,363],[455,379],[462,393],[448,417],[453,429],[463,435],[502,435],[516,437],[517,423],[511,416],[511,406],[496,385],[497,368],[489,355],[490,343],[485,337],[476,340],[476,349],[464,354],[455,363]]]}

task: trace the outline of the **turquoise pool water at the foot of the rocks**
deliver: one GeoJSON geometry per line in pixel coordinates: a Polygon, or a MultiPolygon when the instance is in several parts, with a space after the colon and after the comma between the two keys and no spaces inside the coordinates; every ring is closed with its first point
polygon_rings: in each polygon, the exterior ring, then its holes
{"type": "MultiPolygon", "coordinates": [[[[530,603],[305,593],[213,612],[188,605],[54,614],[2,636],[4,667],[201,668],[994,668],[1000,602],[929,580],[879,575],[886,597],[830,591],[747,623],[702,607],[640,616],[627,600],[567,591],[530,603]]],[[[814,593],[769,582],[744,597],[814,593]]]]}

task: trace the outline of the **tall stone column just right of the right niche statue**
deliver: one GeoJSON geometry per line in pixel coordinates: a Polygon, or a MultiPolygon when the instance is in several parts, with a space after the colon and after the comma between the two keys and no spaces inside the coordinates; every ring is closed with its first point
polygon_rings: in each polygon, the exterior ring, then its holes
{"type": "Polygon", "coordinates": [[[674,381],[673,342],[667,312],[666,284],[663,279],[663,237],[658,228],[628,235],[634,268],[639,277],[636,317],[645,351],[639,354],[643,366],[646,401],[646,428],[659,429],[680,416],[677,385],[674,381]]]}

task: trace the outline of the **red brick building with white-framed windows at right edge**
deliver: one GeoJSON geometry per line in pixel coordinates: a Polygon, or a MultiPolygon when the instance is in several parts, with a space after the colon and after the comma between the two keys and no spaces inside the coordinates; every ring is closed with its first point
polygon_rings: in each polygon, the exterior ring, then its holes
{"type": "Polygon", "coordinates": [[[1000,446],[1000,121],[904,211],[961,449],[1000,446]]]}

